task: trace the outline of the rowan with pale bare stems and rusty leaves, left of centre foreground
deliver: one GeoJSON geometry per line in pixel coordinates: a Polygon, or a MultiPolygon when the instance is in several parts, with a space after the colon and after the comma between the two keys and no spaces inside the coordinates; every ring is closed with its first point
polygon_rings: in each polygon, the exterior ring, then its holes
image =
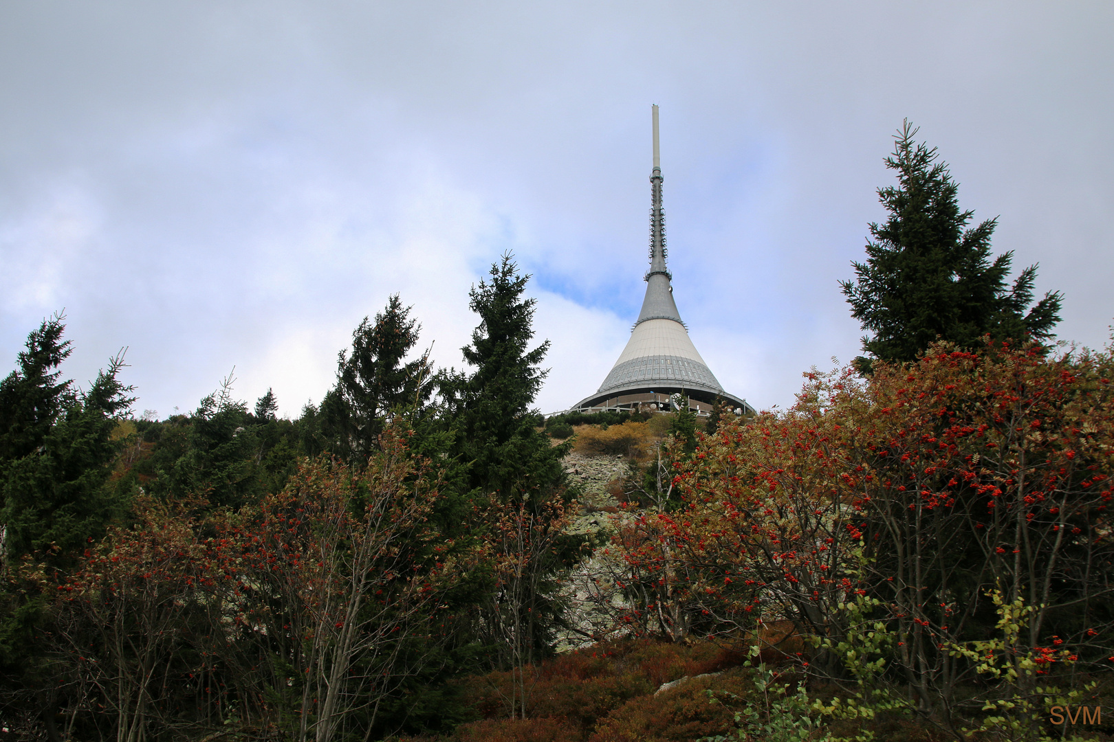
{"type": "Polygon", "coordinates": [[[224,653],[262,675],[255,692],[276,689],[294,739],[398,732],[382,706],[449,641],[446,593],[471,564],[428,523],[438,485],[388,426],[365,466],[304,463],[219,527],[215,588],[235,626],[224,653]]]}

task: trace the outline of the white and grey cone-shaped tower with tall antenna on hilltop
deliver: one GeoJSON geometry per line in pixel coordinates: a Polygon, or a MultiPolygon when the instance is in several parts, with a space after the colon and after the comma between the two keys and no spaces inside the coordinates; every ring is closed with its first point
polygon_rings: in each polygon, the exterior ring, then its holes
{"type": "Polygon", "coordinates": [[[737,414],[752,415],[745,399],[729,394],[704,363],[673,300],[673,276],[665,266],[665,211],[662,209],[662,167],[657,139],[657,106],[654,116],[654,169],[649,176],[649,271],[646,297],[631,332],[604,383],[573,409],[692,409],[706,415],[717,400],[737,414]]]}

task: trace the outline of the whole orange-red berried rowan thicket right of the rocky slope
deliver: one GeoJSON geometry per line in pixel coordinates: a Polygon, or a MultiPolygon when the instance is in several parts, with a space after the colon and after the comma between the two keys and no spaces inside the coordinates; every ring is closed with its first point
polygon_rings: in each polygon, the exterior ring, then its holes
{"type": "MultiPolygon", "coordinates": [[[[1063,660],[1103,671],[1112,378],[1108,353],[1004,344],[939,344],[913,364],[878,364],[866,382],[809,374],[791,409],[721,424],[674,464],[683,507],[616,517],[625,620],[740,641],[791,621],[832,640],[853,629],[848,601],[869,596],[870,620],[892,639],[883,680],[946,719],[1026,691],[988,686],[960,651],[996,631],[997,590],[1033,606],[1017,662],[1036,652],[1046,674],[1063,660]]],[[[811,672],[848,677],[846,657],[790,649],[811,672]]]]}

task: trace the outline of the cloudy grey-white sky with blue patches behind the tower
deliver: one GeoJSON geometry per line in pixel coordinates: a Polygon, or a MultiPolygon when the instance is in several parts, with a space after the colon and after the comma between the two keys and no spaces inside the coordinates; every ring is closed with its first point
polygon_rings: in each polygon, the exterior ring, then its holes
{"type": "Polygon", "coordinates": [[[0,373],[65,308],[67,374],[127,346],[137,413],[235,368],[296,415],[395,291],[459,367],[511,250],[553,343],[538,406],[565,408],[641,306],[655,102],[677,305],[755,406],[858,353],[837,281],[903,118],[1064,291],[1059,338],[1103,346],[1112,37],[1097,0],[8,0],[0,373]]]}

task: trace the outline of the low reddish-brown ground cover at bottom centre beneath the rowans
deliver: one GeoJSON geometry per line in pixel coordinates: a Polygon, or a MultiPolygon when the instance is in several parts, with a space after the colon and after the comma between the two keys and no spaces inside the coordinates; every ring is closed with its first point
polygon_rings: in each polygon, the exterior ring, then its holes
{"type": "MultiPolygon", "coordinates": [[[[749,637],[747,643],[754,641],[749,637]]],[[[763,646],[794,639],[788,624],[770,626],[759,637],[763,646]]],[[[784,645],[781,647],[784,649],[784,645]]],[[[762,653],[763,655],[766,652],[762,653]]],[[[802,679],[792,652],[770,652],[778,682],[802,679]]],[[[514,679],[492,672],[458,681],[460,695],[476,719],[451,734],[402,738],[398,742],[691,742],[725,735],[735,739],[735,712],[763,705],[745,653],[710,641],[672,644],[654,640],[619,640],[563,654],[526,667],[526,719],[510,718],[507,699],[514,679]],[[664,683],[684,680],[655,694],[664,683]],[[713,701],[712,699],[715,699],[713,701]]],[[[839,686],[810,683],[810,696],[830,702],[839,686]]],[[[878,742],[944,742],[939,729],[895,712],[881,711],[869,721],[827,720],[824,732],[854,738],[867,732],[878,742]]],[[[742,738],[739,738],[742,739],[742,738]]],[[[756,739],[746,736],[745,739],[756,739]]],[[[973,742],[999,742],[974,734],[973,742]]],[[[1089,739],[1110,739],[1098,734],[1089,739]]]]}

